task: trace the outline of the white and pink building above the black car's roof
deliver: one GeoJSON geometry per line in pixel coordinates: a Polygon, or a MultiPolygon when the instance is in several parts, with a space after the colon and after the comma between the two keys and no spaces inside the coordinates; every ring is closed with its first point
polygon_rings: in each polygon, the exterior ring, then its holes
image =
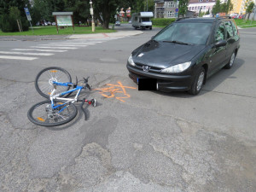
{"type": "Polygon", "coordinates": [[[207,12],[212,13],[212,7],[215,5],[215,0],[190,0],[188,10],[195,11],[195,13],[207,12]]]}

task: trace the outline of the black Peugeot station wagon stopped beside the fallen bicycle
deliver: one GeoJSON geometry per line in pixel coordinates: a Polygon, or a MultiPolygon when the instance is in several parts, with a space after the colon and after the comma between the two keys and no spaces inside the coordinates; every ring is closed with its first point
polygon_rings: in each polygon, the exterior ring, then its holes
{"type": "Polygon", "coordinates": [[[137,84],[197,95],[213,73],[233,66],[239,42],[230,18],[179,19],[132,51],[126,67],[137,84]]]}

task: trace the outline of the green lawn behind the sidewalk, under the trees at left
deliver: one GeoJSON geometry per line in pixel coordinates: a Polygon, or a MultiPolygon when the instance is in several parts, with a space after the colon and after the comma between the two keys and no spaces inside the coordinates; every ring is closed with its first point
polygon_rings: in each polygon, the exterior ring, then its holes
{"type": "Polygon", "coordinates": [[[96,32],[91,32],[91,26],[75,26],[74,32],[73,27],[65,27],[64,29],[59,28],[59,34],[57,34],[57,29],[55,26],[35,26],[33,27],[34,34],[30,29],[27,32],[2,32],[0,31],[0,36],[22,36],[22,35],[73,35],[73,34],[90,34],[90,33],[106,33],[106,32],[116,32],[111,29],[103,29],[101,26],[96,26],[96,32]]]}

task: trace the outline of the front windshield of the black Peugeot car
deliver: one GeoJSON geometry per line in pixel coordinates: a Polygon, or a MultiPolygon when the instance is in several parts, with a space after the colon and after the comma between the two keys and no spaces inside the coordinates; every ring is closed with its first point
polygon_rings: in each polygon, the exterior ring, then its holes
{"type": "Polygon", "coordinates": [[[212,23],[173,23],[154,37],[155,41],[176,44],[207,44],[212,23]]]}

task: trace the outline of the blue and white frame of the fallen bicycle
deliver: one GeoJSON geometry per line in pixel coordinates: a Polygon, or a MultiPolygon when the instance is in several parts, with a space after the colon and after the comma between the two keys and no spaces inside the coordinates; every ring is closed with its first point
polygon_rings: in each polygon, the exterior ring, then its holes
{"type": "MultiPolygon", "coordinates": [[[[73,102],[77,102],[77,101],[78,101],[78,96],[79,96],[81,90],[84,89],[84,87],[82,87],[82,86],[77,86],[76,88],[73,88],[72,90],[67,90],[67,91],[64,91],[64,92],[62,92],[62,93],[59,93],[59,94],[57,94],[57,95],[54,95],[55,90],[56,90],[56,89],[55,89],[55,88],[56,88],[56,85],[60,85],[60,86],[72,86],[73,83],[61,83],[61,82],[55,82],[55,81],[53,81],[52,83],[54,84],[54,90],[52,90],[52,92],[50,93],[49,99],[50,99],[50,102],[51,102],[51,108],[53,108],[53,109],[55,109],[55,108],[60,108],[60,107],[62,107],[62,106],[64,106],[64,105],[67,105],[67,103],[69,103],[69,102],[72,102],[72,103],[73,103],[73,102]],[[72,93],[73,91],[76,91],[76,90],[78,90],[78,92],[77,92],[76,96],[75,96],[73,99],[60,97],[60,96],[65,96],[65,95],[67,95],[68,93],[72,93]],[[54,99],[61,100],[61,101],[66,101],[66,102],[55,106],[54,101],[53,101],[54,99]]],[[[61,108],[61,110],[59,111],[59,113],[60,113],[63,109],[65,109],[65,108],[66,108],[66,107],[61,108]]]]}

